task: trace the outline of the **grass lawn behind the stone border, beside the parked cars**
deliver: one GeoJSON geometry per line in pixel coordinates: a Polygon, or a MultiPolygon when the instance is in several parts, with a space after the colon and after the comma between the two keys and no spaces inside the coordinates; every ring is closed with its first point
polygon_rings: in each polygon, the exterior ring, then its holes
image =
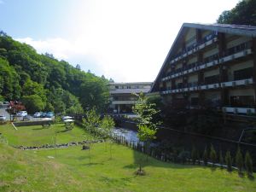
{"type": "Polygon", "coordinates": [[[53,144],[55,132],[56,143],[79,142],[89,137],[88,133],[76,125],[71,131],[66,131],[64,124],[51,125],[50,128],[42,128],[42,125],[20,126],[17,129],[10,124],[0,125],[0,133],[7,138],[10,145],[15,146],[53,144]]]}

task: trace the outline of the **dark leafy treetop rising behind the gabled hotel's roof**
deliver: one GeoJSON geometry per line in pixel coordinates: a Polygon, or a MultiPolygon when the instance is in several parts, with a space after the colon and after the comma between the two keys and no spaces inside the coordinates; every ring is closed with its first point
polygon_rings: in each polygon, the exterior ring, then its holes
{"type": "Polygon", "coordinates": [[[256,0],[242,0],[231,10],[219,15],[217,22],[221,24],[256,26],[256,0]]]}

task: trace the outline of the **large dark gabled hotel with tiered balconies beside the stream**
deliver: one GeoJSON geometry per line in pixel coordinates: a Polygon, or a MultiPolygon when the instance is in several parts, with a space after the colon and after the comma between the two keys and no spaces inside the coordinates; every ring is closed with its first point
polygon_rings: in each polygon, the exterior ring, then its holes
{"type": "Polygon", "coordinates": [[[184,23],[150,90],[166,104],[256,113],[256,26],[184,23]]]}

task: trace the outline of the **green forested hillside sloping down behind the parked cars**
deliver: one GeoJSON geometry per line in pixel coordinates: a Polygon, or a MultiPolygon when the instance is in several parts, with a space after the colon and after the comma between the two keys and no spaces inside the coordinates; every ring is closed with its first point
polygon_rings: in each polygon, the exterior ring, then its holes
{"type": "Polygon", "coordinates": [[[0,32],[0,101],[21,101],[30,113],[82,113],[93,106],[102,111],[108,105],[107,84],[108,79],[39,55],[0,32]]]}

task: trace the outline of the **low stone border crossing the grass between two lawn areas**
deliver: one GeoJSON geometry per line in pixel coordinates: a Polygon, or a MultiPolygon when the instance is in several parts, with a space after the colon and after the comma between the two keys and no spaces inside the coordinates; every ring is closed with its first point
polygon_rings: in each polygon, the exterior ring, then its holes
{"type": "MultiPolygon", "coordinates": [[[[103,143],[103,140],[94,140],[91,143],[103,143]]],[[[61,144],[45,144],[42,146],[13,146],[14,148],[19,148],[21,150],[38,150],[38,149],[50,149],[50,148],[68,148],[72,146],[89,144],[90,141],[84,140],[82,142],[71,142],[71,143],[61,143],[61,144]]]]}

